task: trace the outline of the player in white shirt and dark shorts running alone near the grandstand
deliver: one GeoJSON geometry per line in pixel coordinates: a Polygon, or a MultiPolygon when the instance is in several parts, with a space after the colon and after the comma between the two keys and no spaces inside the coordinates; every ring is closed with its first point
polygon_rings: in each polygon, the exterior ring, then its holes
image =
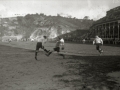
{"type": "Polygon", "coordinates": [[[103,45],[103,40],[96,35],[96,36],[95,36],[95,39],[94,39],[94,41],[93,41],[93,45],[94,45],[94,44],[96,45],[96,50],[98,50],[98,52],[99,52],[100,55],[101,55],[101,53],[103,52],[103,50],[102,50],[102,48],[101,48],[101,45],[103,45]]]}

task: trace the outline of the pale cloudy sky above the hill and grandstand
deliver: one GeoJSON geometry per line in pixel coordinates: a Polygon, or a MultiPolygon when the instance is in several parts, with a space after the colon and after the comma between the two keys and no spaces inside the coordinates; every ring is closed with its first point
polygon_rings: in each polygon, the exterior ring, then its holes
{"type": "Polygon", "coordinates": [[[0,0],[0,17],[35,13],[56,16],[62,13],[78,19],[89,16],[97,20],[117,6],[120,6],[120,0],[0,0]]]}

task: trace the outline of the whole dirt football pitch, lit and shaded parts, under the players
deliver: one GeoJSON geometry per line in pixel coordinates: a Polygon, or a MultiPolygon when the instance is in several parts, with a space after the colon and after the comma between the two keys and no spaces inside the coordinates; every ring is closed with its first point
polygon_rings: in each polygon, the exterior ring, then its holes
{"type": "Polygon", "coordinates": [[[120,47],[103,46],[99,56],[93,45],[67,43],[63,52],[79,56],[40,51],[36,61],[33,42],[0,44],[0,90],[119,90],[120,47]]]}

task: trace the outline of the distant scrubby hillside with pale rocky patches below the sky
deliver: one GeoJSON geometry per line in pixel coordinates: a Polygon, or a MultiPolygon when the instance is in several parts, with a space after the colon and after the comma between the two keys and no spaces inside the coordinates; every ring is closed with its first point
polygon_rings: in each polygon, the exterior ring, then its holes
{"type": "Polygon", "coordinates": [[[44,14],[3,18],[0,21],[0,37],[16,36],[36,39],[38,36],[47,35],[49,38],[55,38],[77,29],[89,29],[93,22],[93,20],[46,16],[44,14]]]}

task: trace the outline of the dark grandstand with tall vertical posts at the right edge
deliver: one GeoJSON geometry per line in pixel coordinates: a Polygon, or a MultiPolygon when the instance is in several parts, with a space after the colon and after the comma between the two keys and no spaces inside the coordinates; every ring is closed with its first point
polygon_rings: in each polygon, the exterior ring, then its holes
{"type": "Polygon", "coordinates": [[[92,39],[95,35],[105,43],[120,43],[120,6],[107,11],[105,17],[93,23],[87,37],[92,39]]]}

